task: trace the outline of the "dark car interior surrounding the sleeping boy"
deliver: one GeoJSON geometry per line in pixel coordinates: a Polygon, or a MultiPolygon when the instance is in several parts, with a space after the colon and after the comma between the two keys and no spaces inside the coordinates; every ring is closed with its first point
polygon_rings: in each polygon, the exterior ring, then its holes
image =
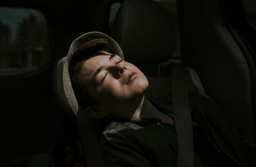
{"type": "Polygon", "coordinates": [[[253,0],[3,0],[0,2],[0,166],[63,166],[82,139],[87,166],[104,166],[100,125],[61,100],[57,63],[91,31],[115,39],[146,74],[148,98],[171,94],[170,63],[187,90],[216,104],[256,144],[256,3],[253,0]]]}

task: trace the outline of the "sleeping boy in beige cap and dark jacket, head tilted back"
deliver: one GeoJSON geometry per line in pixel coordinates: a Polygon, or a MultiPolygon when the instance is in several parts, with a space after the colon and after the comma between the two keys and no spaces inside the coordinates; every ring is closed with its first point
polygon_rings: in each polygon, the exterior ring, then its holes
{"type": "MultiPolygon", "coordinates": [[[[177,166],[174,120],[163,104],[170,98],[148,100],[148,79],[123,58],[106,34],[79,36],[59,62],[60,94],[75,114],[82,108],[90,119],[106,122],[100,139],[106,166],[177,166]]],[[[195,166],[256,166],[255,146],[241,129],[206,102],[191,105],[195,166]]]]}

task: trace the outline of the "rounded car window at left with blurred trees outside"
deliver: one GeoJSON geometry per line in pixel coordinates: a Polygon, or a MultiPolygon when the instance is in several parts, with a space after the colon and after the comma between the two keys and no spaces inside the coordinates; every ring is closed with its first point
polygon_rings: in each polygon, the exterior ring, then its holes
{"type": "Polygon", "coordinates": [[[37,9],[0,7],[0,76],[38,71],[49,62],[49,36],[37,9]]]}

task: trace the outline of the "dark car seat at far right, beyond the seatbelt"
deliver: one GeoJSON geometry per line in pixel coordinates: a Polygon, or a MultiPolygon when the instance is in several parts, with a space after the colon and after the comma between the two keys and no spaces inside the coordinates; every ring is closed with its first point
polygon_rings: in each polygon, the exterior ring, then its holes
{"type": "Polygon", "coordinates": [[[255,55],[235,26],[247,26],[240,22],[241,1],[228,2],[177,1],[183,63],[197,71],[205,92],[255,144],[255,55]]]}

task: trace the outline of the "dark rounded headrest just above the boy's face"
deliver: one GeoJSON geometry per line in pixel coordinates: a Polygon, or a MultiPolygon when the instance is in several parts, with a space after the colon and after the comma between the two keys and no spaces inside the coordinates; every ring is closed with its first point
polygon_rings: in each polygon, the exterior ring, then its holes
{"type": "Polygon", "coordinates": [[[174,52],[174,31],[167,11],[151,0],[125,0],[117,12],[111,34],[137,63],[162,63],[174,52]]]}

